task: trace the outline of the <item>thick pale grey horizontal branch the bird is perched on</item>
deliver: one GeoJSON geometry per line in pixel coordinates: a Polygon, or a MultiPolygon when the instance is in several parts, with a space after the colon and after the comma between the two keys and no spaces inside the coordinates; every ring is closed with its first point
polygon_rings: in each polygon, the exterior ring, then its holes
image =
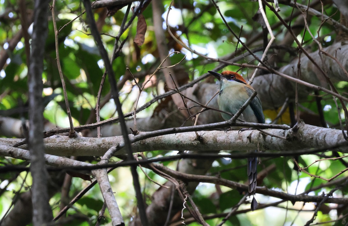
{"type": "MultiPolygon", "coordinates": [[[[248,131],[200,131],[197,138],[194,132],[159,135],[151,137],[152,132],[140,132],[129,135],[133,152],[152,150],[299,150],[304,148],[323,148],[345,142],[342,132],[329,128],[300,124],[290,130],[268,129],[274,134],[286,139],[271,137],[257,130],[248,131]],[[151,137],[151,138],[147,138],[151,137]],[[145,139],[146,138],[146,139],[145,139]],[[143,139],[143,140],[142,140],[143,139]],[[136,142],[134,142],[136,141],[136,142]]],[[[156,132],[156,131],[154,131],[156,132]]],[[[0,138],[0,144],[14,145],[21,139],[0,138]]],[[[47,154],[58,156],[103,156],[112,146],[123,143],[121,136],[107,138],[69,138],[54,136],[44,139],[47,154]]],[[[121,145],[122,146],[122,145],[121,145]]],[[[26,149],[26,145],[21,146],[26,149]]],[[[346,148],[336,150],[347,152],[346,148]]],[[[116,154],[126,154],[121,148],[116,154]]]]}

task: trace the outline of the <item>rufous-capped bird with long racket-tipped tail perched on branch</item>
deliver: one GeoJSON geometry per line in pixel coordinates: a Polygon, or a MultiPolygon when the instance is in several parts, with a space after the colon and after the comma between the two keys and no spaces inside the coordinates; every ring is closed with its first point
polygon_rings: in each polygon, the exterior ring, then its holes
{"type": "MultiPolygon", "coordinates": [[[[208,71],[215,76],[219,81],[219,96],[217,104],[219,109],[231,114],[236,114],[240,107],[249,99],[255,92],[251,85],[247,84],[244,78],[237,72],[223,71],[221,74],[216,71],[208,71]]],[[[231,119],[230,114],[221,112],[224,120],[231,119]]],[[[251,101],[242,114],[238,117],[239,120],[251,123],[265,123],[262,111],[262,104],[258,95],[251,101]]],[[[242,127],[231,126],[232,129],[241,129],[242,127]]],[[[256,151],[256,150],[255,150],[256,151]]],[[[256,191],[257,178],[257,157],[248,157],[247,162],[248,175],[248,192],[253,195],[251,202],[251,210],[254,211],[258,203],[254,197],[256,191]]]]}

